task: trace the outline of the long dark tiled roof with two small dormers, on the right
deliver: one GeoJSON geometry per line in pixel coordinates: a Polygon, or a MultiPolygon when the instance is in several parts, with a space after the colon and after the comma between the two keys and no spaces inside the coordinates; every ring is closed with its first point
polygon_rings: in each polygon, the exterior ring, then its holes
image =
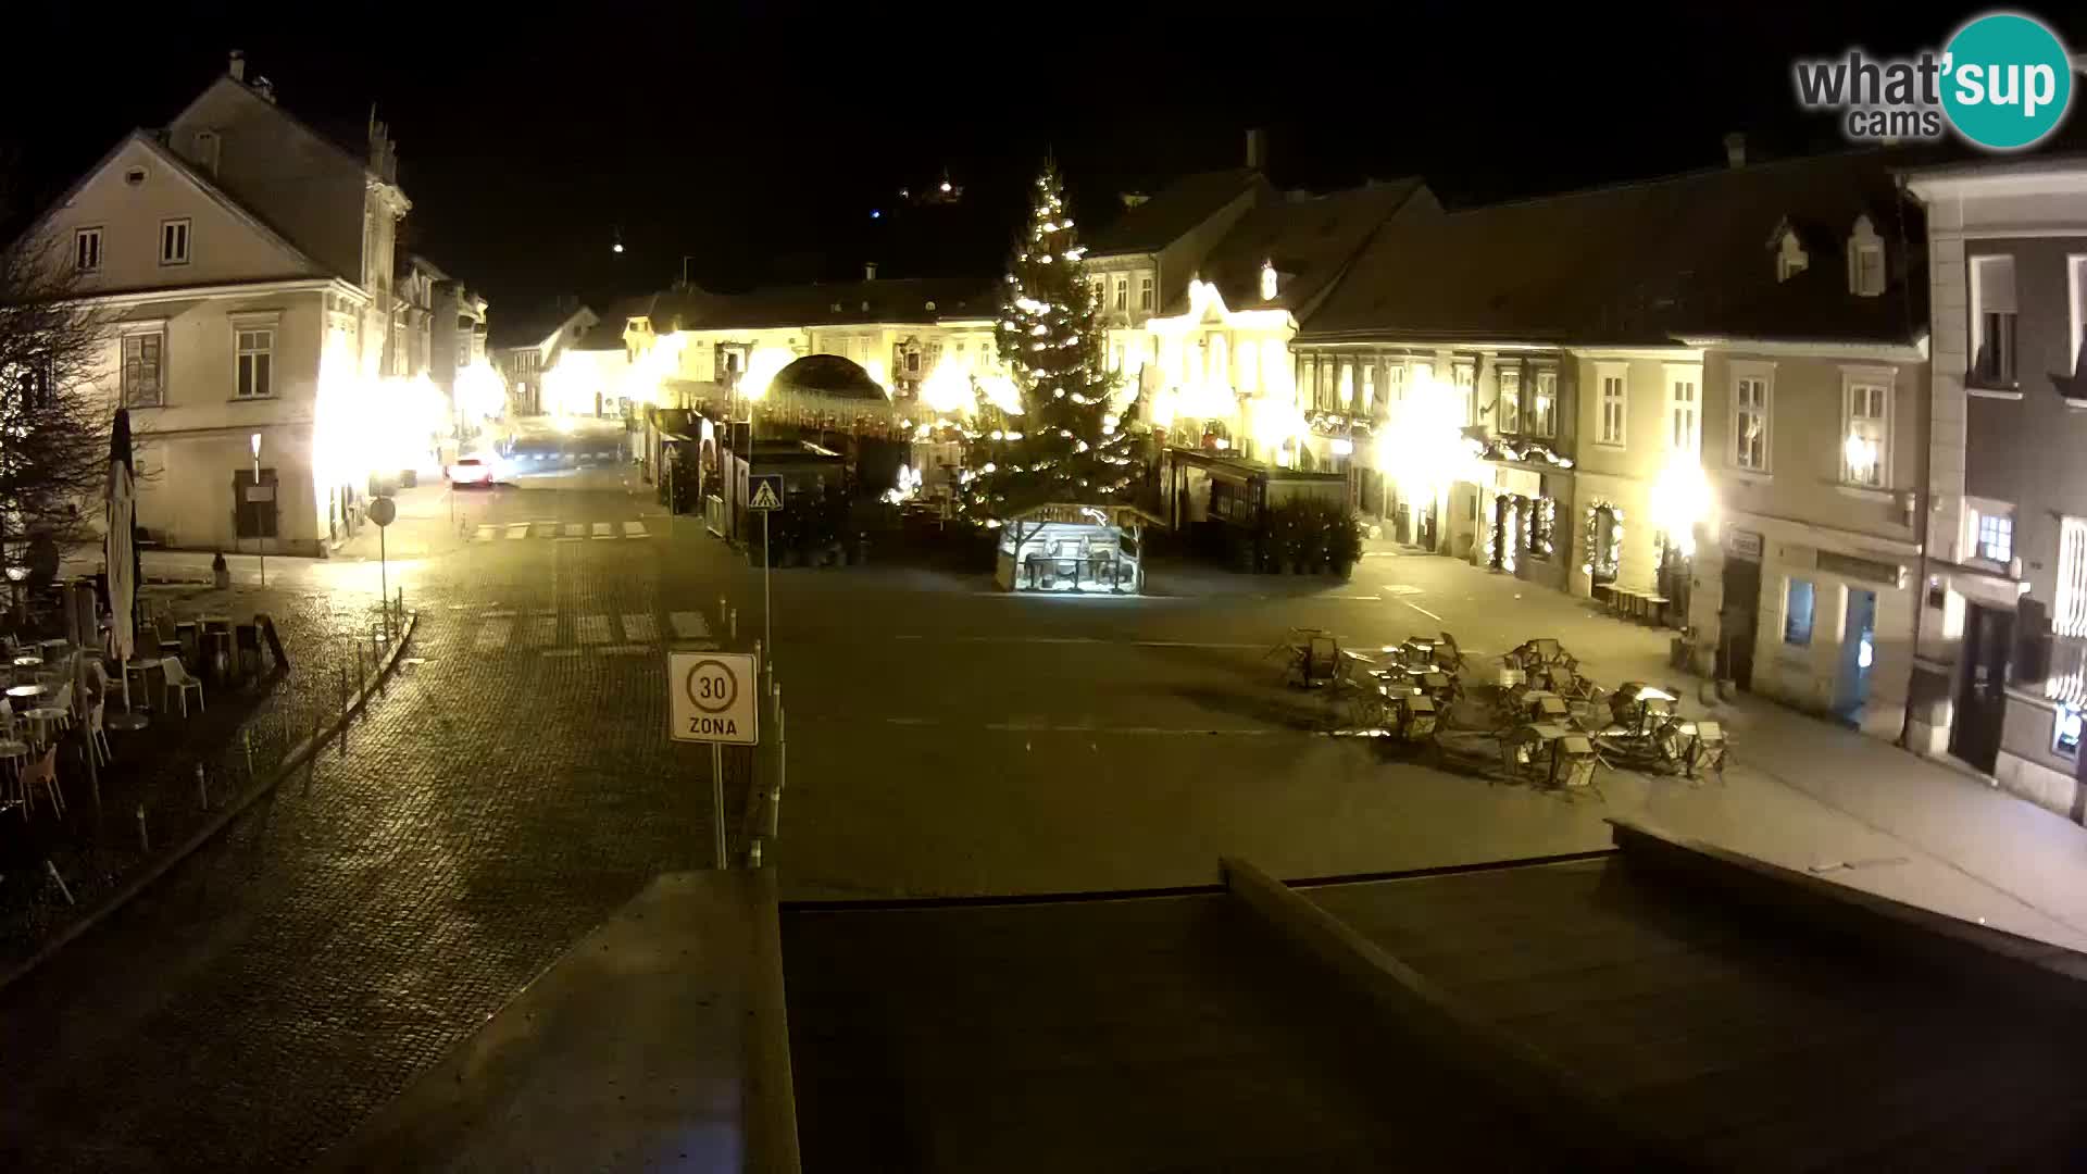
{"type": "Polygon", "coordinates": [[[1302,334],[1903,343],[1926,322],[1924,228],[1893,163],[1882,150],[1843,152],[1392,224],[1302,334]],[[1882,297],[1847,288],[1847,238],[1864,213],[1887,246],[1882,297]],[[1774,265],[1782,224],[1809,253],[1786,282],[1774,265]]]}

